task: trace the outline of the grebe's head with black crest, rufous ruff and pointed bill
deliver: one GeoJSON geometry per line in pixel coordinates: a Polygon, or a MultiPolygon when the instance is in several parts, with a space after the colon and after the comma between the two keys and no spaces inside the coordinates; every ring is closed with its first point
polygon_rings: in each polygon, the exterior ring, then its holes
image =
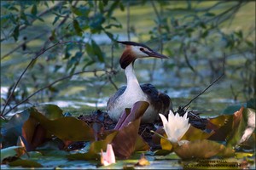
{"type": "Polygon", "coordinates": [[[138,58],[146,58],[146,57],[155,57],[160,59],[168,59],[166,55],[159,54],[154,52],[148,46],[137,43],[137,42],[119,42],[125,44],[125,51],[122,54],[119,64],[121,65],[122,69],[125,69],[126,66],[130,65],[138,58]]]}

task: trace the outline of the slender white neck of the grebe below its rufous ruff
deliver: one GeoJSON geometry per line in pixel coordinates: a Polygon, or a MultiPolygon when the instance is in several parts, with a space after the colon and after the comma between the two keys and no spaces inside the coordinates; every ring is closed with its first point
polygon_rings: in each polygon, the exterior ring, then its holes
{"type": "Polygon", "coordinates": [[[127,88],[126,91],[133,91],[138,93],[143,93],[142,88],[140,87],[139,82],[137,81],[137,77],[133,70],[133,64],[126,66],[125,68],[125,76],[127,79],[127,88]]]}

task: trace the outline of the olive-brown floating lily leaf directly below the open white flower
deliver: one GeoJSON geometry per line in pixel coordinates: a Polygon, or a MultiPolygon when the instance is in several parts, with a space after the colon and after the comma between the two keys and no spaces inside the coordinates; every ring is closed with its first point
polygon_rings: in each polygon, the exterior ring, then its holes
{"type": "Polygon", "coordinates": [[[234,150],[226,148],[224,144],[203,139],[182,144],[174,148],[174,152],[182,159],[207,159],[212,156],[234,156],[234,150]]]}

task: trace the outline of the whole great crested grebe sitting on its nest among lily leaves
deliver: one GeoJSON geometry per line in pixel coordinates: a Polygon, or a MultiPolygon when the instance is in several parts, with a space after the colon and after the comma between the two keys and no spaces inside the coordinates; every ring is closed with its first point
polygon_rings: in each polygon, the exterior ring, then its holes
{"type": "Polygon", "coordinates": [[[119,88],[116,94],[108,99],[108,115],[114,122],[118,122],[125,108],[131,108],[137,101],[147,101],[149,107],[143,115],[142,122],[154,122],[159,113],[166,114],[172,109],[172,101],[168,95],[158,92],[152,84],[147,83],[140,85],[134,73],[133,64],[137,58],[149,56],[166,58],[166,56],[157,54],[152,49],[137,42],[122,43],[126,44],[126,48],[119,62],[121,67],[125,70],[127,86],[119,88]],[[147,55],[145,55],[144,52],[147,55]]]}

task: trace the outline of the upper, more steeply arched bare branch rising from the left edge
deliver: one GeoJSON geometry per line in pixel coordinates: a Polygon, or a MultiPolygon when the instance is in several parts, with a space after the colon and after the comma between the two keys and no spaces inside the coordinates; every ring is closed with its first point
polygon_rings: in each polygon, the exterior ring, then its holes
{"type": "MultiPolygon", "coordinates": [[[[70,42],[73,42],[73,41],[67,41],[67,42],[56,42],[54,45],[50,46],[49,48],[42,48],[38,54],[36,54],[36,56],[34,56],[32,58],[32,60],[30,61],[30,63],[26,66],[26,69],[21,73],[20,77],[18,78],[17,82],[15,83],[15,86],[14,88],[12,89],[12,92],[11,94],[9,94],[9,98],[6,100],[6,103],[5,105],[3,106],[3,111],[1,113],[1,115],[3,115],[7,105],[9,105],[9,100],[11,99],[11,97],[13,96],[13,94],[15,93],[15,89],[17,88],[21,78],[24,76],[24,74],[26,73],[27,69],[36,61],[36,59],[38,59],[39,56],[41,56],[42,54],[44,54],[46,51],[48,51],[49,49],[51,48],[54,48],[55,46],[57,45],[61,45],[61,44],[65,44],[65,43],[70,43],[70,42]]],[[[81,42],[74,42],[74,43],[81,43],[81,42]]]]}

